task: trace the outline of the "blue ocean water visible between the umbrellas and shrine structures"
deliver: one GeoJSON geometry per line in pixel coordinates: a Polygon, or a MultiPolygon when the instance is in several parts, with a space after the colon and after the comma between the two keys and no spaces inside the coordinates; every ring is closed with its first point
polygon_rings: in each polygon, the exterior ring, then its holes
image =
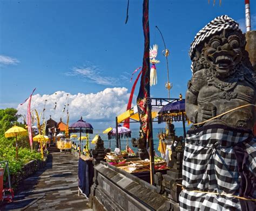
{"type": "MultiPolygon", "coordinates": [[[[103,140],[104,140],[104,147],[105,148],[111,148],[111,151],[113,151],[116,148],[116,139],[111,139],[109,140],[107,138],[107,134],[103,133],[104,130],[100,130],[100,129],[94,129],[93,130],[93,134],[89,134],[89,139],[90,139],[90,149],[94,149],[95,148],[95,144],[91,143],[91,140],[98,134],[103,140]]],[[[132,133],[131,133],[131,138],[129,138],[128,140],[128,145],[131,147],[131,149],[134,152],[137,152],[137,148],[132,147],[132,143],[131,143],[131,139],[132,138],[138,138],[139,137],[139,129],[131,129],[132,133]]],[[[154,149],[156,150],[156,153],[158,155],[160,155],[160,153],[157,151],[158,148],[158,144],[159,144],[159,139],[157,138],[157,135],[160,131],[165,131],[164,128],[153,128],[153,140],[154,140],[154,149]]],[[[187,131],[187,129],[186,129],[187,131]]],[[[183,128],[175,128],[175,132],[176,132],[176,136],[183,136],[183,128]]],[[[71,138],[71,141],[75,141],[76,145],[78,146],[79,144],[79,134],[77,134],[77,138],[73,139],[71,138]]],[[[86,134],[82,133],[82,136],[86,136],[86,134]]],[[[121,150],[125,150],[126,147],[126,142],[127,139],[123,138],[121,139],[121,150]]],[[[86,140],[82,140],[82,149],[84,147],[86,143],[86,140]]]]}

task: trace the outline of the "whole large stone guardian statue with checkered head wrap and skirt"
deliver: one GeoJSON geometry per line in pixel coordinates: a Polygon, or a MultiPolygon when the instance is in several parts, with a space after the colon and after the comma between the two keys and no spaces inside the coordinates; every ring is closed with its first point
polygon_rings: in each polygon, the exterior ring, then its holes
{"type": "Polygon", "coordinates": [[[190,48],[181,210],[255,210],[256,78],[238,23],[224,15],[190,48]]]}

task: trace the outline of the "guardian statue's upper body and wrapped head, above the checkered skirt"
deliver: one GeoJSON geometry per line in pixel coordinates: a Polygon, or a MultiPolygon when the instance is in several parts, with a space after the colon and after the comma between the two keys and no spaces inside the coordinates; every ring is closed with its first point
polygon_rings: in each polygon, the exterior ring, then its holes
{"type": "MultiPolygon", "coordinates": [[[[197,34],[190,48],[193,75],[186,93],[186,114],[192,123],[201,123],[231,109],[255,104],[256,78],[245,51],[245,36],[231,18],[218,18],[223,25],[208,24],[208,32],[206,26],[197,34]],[[213,27],[216,27],[215,31],[213,27]]],[[[252,129],[254,119],[255,108],[251,105],[200,126],[223,124],[252,129]]]]}

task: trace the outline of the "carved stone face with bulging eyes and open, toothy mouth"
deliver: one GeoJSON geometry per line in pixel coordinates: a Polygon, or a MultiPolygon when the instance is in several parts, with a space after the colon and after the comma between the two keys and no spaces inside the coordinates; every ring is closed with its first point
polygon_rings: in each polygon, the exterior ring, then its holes
{"type": "Polygon", "coordinates": [[[204,57],[223,78],[241,61],[242,44],[236,34],[230,36],[213,36],[205,45],[204,57]]]}

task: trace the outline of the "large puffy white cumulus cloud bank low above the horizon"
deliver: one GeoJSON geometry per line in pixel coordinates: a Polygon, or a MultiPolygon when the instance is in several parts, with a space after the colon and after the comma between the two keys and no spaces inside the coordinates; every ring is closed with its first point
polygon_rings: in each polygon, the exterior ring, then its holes
{"type": "MultiPolygon", "coordinates": [[[[106,88],[102,92],[72,95],[63,91],[58,91],[51,95],[33,95],[31,101],[31,111],[37,109],[42,112],[45,106],[45,118],[49,119],[50,115],[56,122],[62,117],[66,122],[66,110],[62,112],[66,102],[66,96],[69,94],[69,115],[70,123],[77,121],[80,116],[87,122],[97,122],[97,125],[103,123],[105,126],[113,124],[115,117],[126,110],[126,105],[130,94],[127,88],[115,87],[106,88]],[[53,109],[57,102],[56,110],[53,109]]],[[[67,107],[66,107],[67,109],[67,107]]],[[[26,114],[27,103],[17,107],[18,114],[26,114]]],[[[42,122],[41,122],[42,123],[42,122]]],[[[93,124],[92,124],[93,125],[93,124]]],[[[97,127],[96,127],[97,128],[97,127]]]]}

